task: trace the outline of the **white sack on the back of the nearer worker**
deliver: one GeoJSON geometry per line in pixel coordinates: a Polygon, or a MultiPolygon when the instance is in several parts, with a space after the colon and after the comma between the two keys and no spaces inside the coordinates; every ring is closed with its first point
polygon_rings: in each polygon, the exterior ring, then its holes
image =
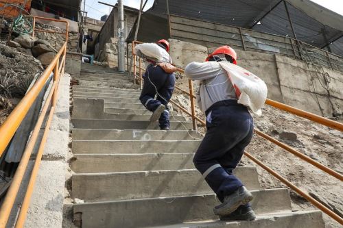
{"type": "Polygon", "coordinates": [[[261,115],[261,108],[267,99],[268,89],[264,81],[230,62],[219,62],[222,68],[228,73],[228,78],[235,88],[238,103],[246,105],[257,115],[261,115]]]}

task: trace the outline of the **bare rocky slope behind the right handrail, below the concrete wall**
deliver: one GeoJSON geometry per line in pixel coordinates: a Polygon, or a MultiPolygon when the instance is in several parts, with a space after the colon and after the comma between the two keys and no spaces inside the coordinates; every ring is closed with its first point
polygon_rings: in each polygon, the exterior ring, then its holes
{"type": "MultiPolygon", "coordinates": [[[[343,173],[343,133],[323,125],[308,121],[267,106],[263,116],[255,116],[255,126],[260,131],[288,144],[316,162],[343,173]]],[[[304,190],[311,197],[318,199],[331,210],[343,216],[343,184],[322,170],[300,160],[298,157],[277,147],[255,134],[246,151],[268,164],[283,177],[304,190]]],[[[242,161],[251,163],[247,157],[242,161]]],[[[260,181],[263,188],[278,188],[283,184],[259,168],[260,181]]],[[[285,186],[283,186],[285,187],[285,186]]],[[[294,210],[314,208],[303,197],[291,192],[294,210]]],[[[324,214],[327,227],[341,227],[324,214]]]]}

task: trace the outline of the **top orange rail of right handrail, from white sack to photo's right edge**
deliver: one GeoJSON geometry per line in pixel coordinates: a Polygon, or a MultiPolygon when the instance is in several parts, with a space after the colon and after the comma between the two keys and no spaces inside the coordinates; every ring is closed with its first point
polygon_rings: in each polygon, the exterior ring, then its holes
{"type": "Polygon", "coordinates": [[[273,100],[270,100],[270,99],[267,99],[265,101],[265,103],[267,105],[272,106],[272,107],[276,107],[279,110],[284,110],[286,112],[295,114],[297,116],[301,116],[303,118],[307,118],[310,121],[314,121],[316,123],[320,123],[320,124],[325,125],[327,127],[332,127],[334,129],[338,129],[339,131],[343,131],[343,123],[339,123],[337,121],[331,121],[329,118],[324,118],[322,116],[318,116],[316,114],[312,114],[311,112],[306,112],[306,111],[303,111],[303,110],[299,110],[296,107],[285,105],[283,103],[280,103],[280,102],[277,102],[277,101],[273,101],[273,100]]]}

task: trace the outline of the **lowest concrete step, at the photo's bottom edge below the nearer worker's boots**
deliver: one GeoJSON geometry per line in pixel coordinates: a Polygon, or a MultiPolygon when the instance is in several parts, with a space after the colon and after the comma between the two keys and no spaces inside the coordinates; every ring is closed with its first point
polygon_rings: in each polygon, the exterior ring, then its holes
{"type": "Polygon", "coordinates": [[[253,221],[195,221],[176,225],[156,226],[154,228],[324,228],[322,212],[281,212],[261,214],[253,221]]]}

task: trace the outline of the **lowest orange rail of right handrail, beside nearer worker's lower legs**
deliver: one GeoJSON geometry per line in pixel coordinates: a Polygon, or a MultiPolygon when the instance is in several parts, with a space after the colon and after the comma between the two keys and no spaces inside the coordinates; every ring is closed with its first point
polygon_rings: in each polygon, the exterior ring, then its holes
{"type": "Polygon", "coordinates": [[[338,221],[338,223],[343,225],[343,218],[341,218],[340,216],[335,214],[333,211],[329,210],[327,207],[322,205],[322,203],[319,203],[318,201],[316,201],[316,199],[314,199],[313,197],[310,197],[308,194],[306,194],[305,192],[300,190],[300,188],[296,187],[293,183],[289,182],[284,177],[281,177],[281,175],[279,175],[279,173],[276,173],[274,170],[272,170],[271,168],[269,168],[268,166],[263,164],[263,162],[258,160],[256,157],[253,157],[252,155],[250,155],[250,153],[244,152],[244,155],[249,157],[250,160],[252,160],[256,164],[261,166],[263,169],[267,170],[268,173],[270,173],[271,175],[273,175],[274,177],[279,179],[281,182],[285,183],[286,186],[288,186],[289,188],[292,188],[292,190],[294,190],[294,192],[300,194],[300,196],[302,196],[305,199],[307,199],[307,201],[309,201],[310,203],[312,203],[313,205],[318,207],[322,212],[324,212],[325,214],[329,215],[331,218],[333,218],[334,220],[338,221]]]}

